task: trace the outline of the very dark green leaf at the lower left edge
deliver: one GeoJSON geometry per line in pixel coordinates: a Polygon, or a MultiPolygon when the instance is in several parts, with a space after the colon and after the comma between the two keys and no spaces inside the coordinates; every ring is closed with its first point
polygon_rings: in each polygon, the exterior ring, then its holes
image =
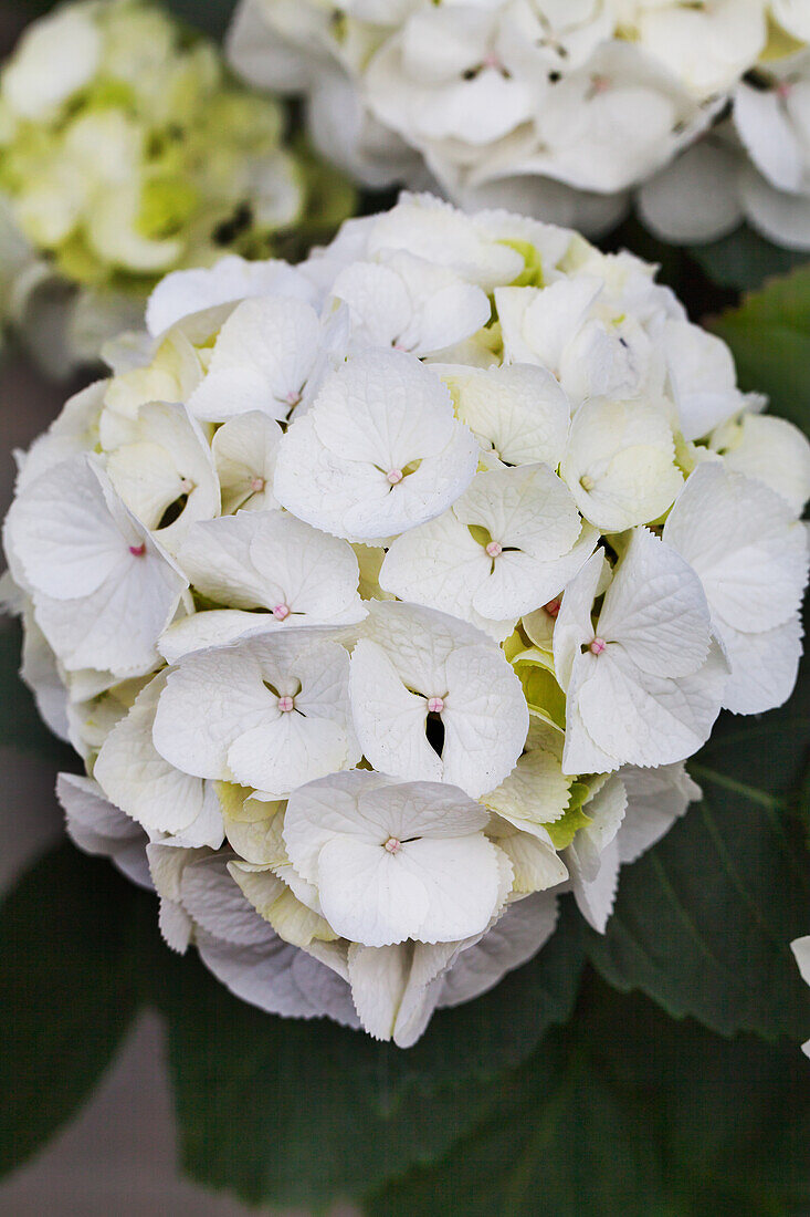
{"type": "Polygon", "coordinates": [[[92,1094],[133,1020],[131,892],[66,843],[0,905],[0,1172],[92,1094]]]}

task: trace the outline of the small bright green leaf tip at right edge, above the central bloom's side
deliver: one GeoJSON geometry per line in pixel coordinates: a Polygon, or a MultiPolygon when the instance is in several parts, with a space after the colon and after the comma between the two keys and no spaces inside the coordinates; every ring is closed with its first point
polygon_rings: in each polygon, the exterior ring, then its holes
{"type": "Polygon", "coordinates": [[[810,431],[810,265],[707,325],[731,347],[741,387],[767,393],[775,414],[810,431]]]}

